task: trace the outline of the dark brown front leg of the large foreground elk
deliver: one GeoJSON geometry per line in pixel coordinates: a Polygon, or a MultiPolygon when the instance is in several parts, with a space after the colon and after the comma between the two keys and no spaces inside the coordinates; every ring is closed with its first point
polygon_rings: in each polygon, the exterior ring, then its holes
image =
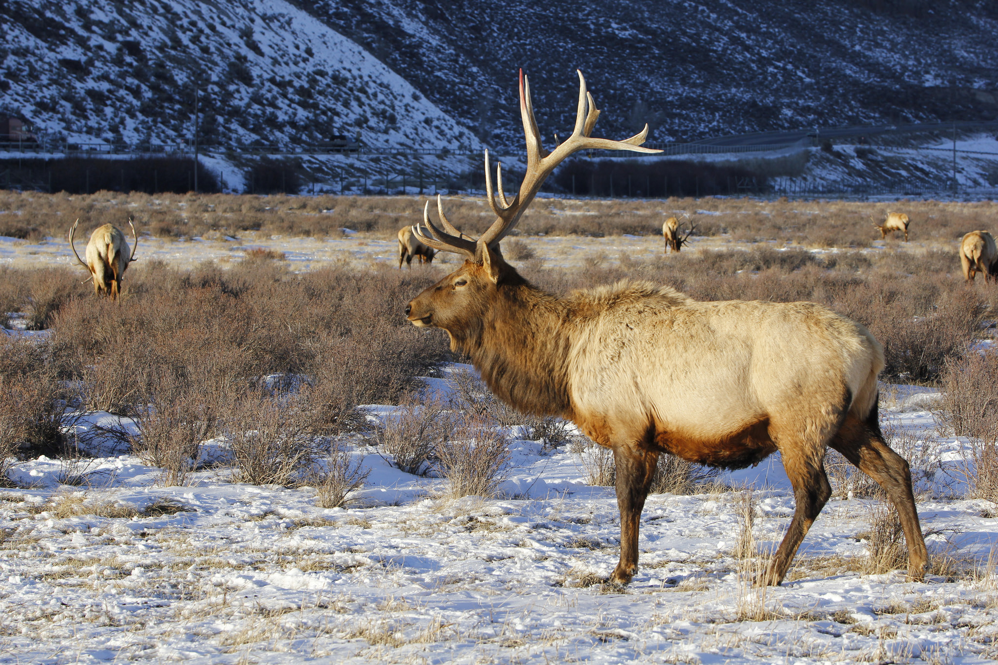
{"type": "Polygon", "coordinates": [[[638,569],[638,531],[641,511],[652,487],[659,454],[634,448],[615,448],[617,505],[621,510],[621,558],[610,581],[627,584],[638,569]]]}

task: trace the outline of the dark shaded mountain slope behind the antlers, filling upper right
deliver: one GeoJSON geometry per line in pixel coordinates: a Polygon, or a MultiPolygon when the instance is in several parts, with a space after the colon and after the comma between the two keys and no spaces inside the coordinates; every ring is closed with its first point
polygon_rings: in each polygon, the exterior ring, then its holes
{"type": "Polygon", "coordinates": [[[547,137],[581,69],[603,136],[995,118],[985,0],[301,0],[493,145],[521,143],[518,67],[547,137]]]}

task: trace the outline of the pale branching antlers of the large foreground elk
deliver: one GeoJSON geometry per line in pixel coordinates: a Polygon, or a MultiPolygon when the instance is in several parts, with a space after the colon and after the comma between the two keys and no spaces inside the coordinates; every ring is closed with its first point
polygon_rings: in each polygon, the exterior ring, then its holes
{"type": "MultiPolygon", "coordinates": [[[[578,70],[577,70],[578,71],[578,70]]],[[[509,234],[520,221],[527,206],[534,200],[534,196],[540,190],[544,180],[555,169],[556,166],[565,161],[573,153],[582,150],[611,150],[611,151],[633,151],[635,153],[661,153],[662,151],[651,148],[642,148],[645,138],[648,136],[648,125],[645,129],[624,141],[611,141],[609,139],[593,139],[590,135],[596,126],[596,121],[600,117],[600,110],[596,108],[593,96],[586,89],[586,79],[579,72],[579,106],[575,117],[575,129],[572,136],[555,147],[552,153],[544,150],[541,144],[541,133],[537,129],[537,120],[534,118],[534,105],[530,99],[530,82],[520,70],[520,117],[523,121],[523,134],[527,144],[527,171],[523,176],[523,182],[512,202],[507,201],[506,194],[502,188],[502,165],[496,166],[496,184],[499,190],[499,200],[496,200],[496,192],[492,184],[492,166],[489,164],[489,152],[485,151],[485,195],[488,197],[489,207],[496,215],[496,220],[492,222],[488,230],[482,233],[477,240],[462,237],[456,228],[443,216],[443,208],[440,206],[440,198],[437,197],[437,209],[440,220],[447,232],[440,231],[429,220],[429,203],[423,210],[423,226],[413,226],[412,231],[416,236],[434,249],[441,251],[452,251],[467,255],[476,261],[482,261],[482,254],[487,248],[496,249],[499,242],[509,234]]]]}

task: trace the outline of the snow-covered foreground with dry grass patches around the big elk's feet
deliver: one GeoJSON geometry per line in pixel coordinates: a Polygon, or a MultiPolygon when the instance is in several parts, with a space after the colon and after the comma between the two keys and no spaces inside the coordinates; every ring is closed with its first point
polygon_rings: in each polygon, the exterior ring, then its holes
{"type": "MultiPolygon", "coordinates": [[[[0,662],[993,662],[998,522],[982,515],[994,506],[946,499],[961,442],[936,434],[931,391],[882,397],[885,426],[937,451],[918,503],[930,551],[975,574],[852,571],[874,501],[833,499],[788,581],[752,589],[733,556],[734,503],[754,489],[756,546],[774,546],[793,509],[778,459],[724,478],[742,490],[650,497],[639,572],[614,588],[599,583],[618,556],[613,490],[587,486],[573,453],[517,439],[521,428],[508,432],[501,499],[446,499],[444,480],[401,473],[356,440],[371,475],[345,509],[316,507],[308,488],[232,483],[225,467],[163,487],[160,470],[97,450],[82,467],[19,464],[30,489],[0,495],[0,662]],[[59,485],[67,474],[86,482],[59,485]],[[60,517],[62,501],[93,510],[60,517]]],[[[72,427],[86,438],[116,422],[72,427]]],[[[224,442],[206,449],[225,454],[224,442]]]]}

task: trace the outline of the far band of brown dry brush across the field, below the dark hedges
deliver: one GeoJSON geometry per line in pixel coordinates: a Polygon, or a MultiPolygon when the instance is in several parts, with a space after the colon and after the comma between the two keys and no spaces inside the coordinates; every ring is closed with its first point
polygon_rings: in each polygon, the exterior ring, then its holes
{"type": "MultiPolygon", "coordinates": [[[[235,194],[157,194],[101,191],[90,195],[43,194],[35,191],[0,193],[4,228],[18,237],[62,237],[80,217],[84,227],[111,221],[123,224],[134,214],[136,224],[162,237],[215,237],[259,231],[324,237],[341,227],[393,235],[418,221],[424,197],[418,196],[287,196],[235,194]],[[24,223],[12,222],[14,219],[24,223]],[[30,220],[30,223],[29,221],[30,220]],[[20,230],[18,230],[20,229],[20,230]]],[[[448,215],[462,229],[480,233],[494,215],[482,197],[451,196],[445,199],[448,215]]],[[[619,235],[661,232],[664,216],[687,211],[698,221],[703,235],[731,234],[755,242],[790,240],[814,247],[865,247],[878,232],[869,217],[888,211],[906,212],[912,219],[913,242],[949,243],[967,231],[990,228],[996,204],[992,201],[804,201],[751,198],[563,199],[533,202],[518,231],[535,235],[619,235]],[[697,214],[698,210],[721,212],[697,214]],[[667,214],[668,213],[668,214],[667,214]]],[[[2,229],[0,229],[2,230],[2,229]]],[[[889,244],[900,244],[889,239],[889,244]]],[[[511,255],[512,256],[512,255],[511,255]]],[[[514,260],[526,257],[512,256],[514,260]]]]}

